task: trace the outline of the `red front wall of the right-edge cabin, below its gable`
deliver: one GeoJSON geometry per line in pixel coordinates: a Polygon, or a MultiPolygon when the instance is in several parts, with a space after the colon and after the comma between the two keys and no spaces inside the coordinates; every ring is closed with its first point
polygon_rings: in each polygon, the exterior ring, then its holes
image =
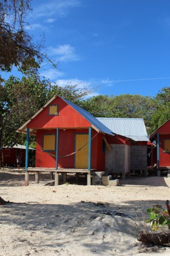
{"type": "MultiPolygon", "coordinates": [[[[170,123],[169,123],[170,124],[170,123]]],[[[165,153],[164,151],[164,140],[165,139],[169,139],[170,140],[170,134],[168,135],[162,135],[160,134],[160,162],[159,162],[159,166],[160,167],[166,167],[166,166],[170,166],[170,153],[165,153]]]]}

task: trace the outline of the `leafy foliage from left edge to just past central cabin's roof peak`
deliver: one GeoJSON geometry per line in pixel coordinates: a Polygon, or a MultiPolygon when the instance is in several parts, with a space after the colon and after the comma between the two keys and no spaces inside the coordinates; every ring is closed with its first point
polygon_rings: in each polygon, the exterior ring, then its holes
{"type": "MultiPolygon", "coordinates": [[[[3,86],[0,86],[4,97],[0,97],[1,115],[1,146],[13,146],[23,144],[25,136],[16,133],[19,127],[30,119],[38,110],[58,94],[78,104],[84,96],[91,93],[87,88],[78,88],[78,85],[50,85],[48,81],[35,76],[23,76],[22,79],[10,76],[3,86]]],[[[2,96],[2,93],[1,93],[2,96]]]]}

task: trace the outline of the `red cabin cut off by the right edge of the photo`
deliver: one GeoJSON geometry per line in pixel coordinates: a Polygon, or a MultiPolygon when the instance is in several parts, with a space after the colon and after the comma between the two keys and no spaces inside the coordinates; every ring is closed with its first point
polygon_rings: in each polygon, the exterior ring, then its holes
{"type": "Polygon", "coordinates": [[[157,169],[170,169],[170,119],[152,132],[149,139],[156,144],[153,149],[156,159],[152,165],[156,165],[157,169]]]}

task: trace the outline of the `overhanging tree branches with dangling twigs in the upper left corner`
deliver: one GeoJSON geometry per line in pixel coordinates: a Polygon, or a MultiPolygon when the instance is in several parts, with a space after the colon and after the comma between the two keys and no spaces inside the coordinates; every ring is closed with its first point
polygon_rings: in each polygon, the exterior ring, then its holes
{"type": "Polygon", "coordinates": [[[46,57],[24,28],[30,0],[0,0],[0,69],[36,72],[46,57]]]}

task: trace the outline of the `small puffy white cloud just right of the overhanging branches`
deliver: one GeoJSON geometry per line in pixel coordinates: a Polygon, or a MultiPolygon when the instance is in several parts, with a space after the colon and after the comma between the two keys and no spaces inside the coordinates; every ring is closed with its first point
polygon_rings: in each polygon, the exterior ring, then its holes
{"type": "Polygon", "coordinates": [[[55,55],[59,62],[80,60],[78,55],[75,53],[75,48],[70,46],[70,44],[63,44],[57,48],[49,47],[48,51],[50,55],[55,55]]]}

